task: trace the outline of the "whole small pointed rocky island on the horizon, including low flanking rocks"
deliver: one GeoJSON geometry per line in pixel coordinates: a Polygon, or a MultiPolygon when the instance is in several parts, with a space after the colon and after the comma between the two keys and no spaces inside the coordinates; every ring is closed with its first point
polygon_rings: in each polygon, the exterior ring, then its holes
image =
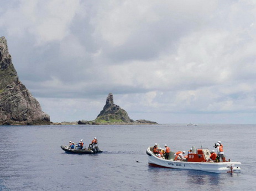
{"type": "Polygon", "coordinates": [[[79,121],[78,124],[158,124],[156,122],[139,119],[130,119],[128,113],[120,106],[114,104],[113,94],[109,93],[106,105],[93,121],[79,121]]]}

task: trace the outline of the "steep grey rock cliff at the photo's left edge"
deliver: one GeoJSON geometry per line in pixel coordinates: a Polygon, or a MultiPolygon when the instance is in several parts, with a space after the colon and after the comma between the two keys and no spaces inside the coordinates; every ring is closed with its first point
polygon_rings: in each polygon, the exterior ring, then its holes
{"type": "Polygon", "coordinates": [[[50,124],[50,117],[19,81],[7,41],[0,37],[0,125],[3,124],[50,124]]]}

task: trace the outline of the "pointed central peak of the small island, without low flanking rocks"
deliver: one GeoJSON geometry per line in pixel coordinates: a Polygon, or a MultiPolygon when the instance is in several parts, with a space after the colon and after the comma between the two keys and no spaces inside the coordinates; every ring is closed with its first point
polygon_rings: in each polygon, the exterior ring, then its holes
{"type": "Polygon", "coordinates": [[[113,94],[109,93],[107,96],[106,105],[103,107],[100,114],[98,114],[95,122],[133,123],[134,121],[129,118],[126,111],[114,104],[113,94]]]}

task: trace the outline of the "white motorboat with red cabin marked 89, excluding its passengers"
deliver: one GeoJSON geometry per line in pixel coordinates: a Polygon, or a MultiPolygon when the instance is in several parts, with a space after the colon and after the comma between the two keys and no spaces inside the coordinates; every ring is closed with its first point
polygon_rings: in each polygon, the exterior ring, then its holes
{"type": "Polygon", "coordinates": [[[187,156],[187,161],[175,161],[175,153],[170,152],[169,159],[163,159],[153,153],[153,148],[147,149],[148,163],[150,166],[163,168],[179,168],[186,170],[198,170],[215,173],[240,172],[241,162],[206,162],[210,157],[210,151],[207,148],[198,148],[192,154],[187,156]]]}

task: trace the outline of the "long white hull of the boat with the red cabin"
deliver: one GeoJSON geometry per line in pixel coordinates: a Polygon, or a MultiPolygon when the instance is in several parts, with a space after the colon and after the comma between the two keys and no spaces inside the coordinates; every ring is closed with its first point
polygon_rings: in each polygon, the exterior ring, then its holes
{"type": "Polygon", "coordinates": [[[147,154],[149,165],[154,167],[199,170],[214,173],[241,171],[241,162],[185,162],[165,160],[157,157],[152,151],[150,151],[150,148],[148,148],[147,154]]]}

